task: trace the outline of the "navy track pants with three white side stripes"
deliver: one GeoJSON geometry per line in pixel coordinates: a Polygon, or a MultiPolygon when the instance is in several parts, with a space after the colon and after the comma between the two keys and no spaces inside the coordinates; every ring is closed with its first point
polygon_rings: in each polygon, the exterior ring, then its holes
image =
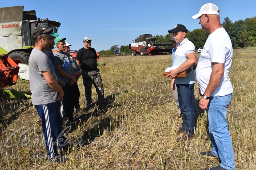
{"type": "Polygon", "coordinates": [[[66,140],[63,134],[61,134],[63,130],[62,117],[59,112],[57,102],[35,105],[35,108],[42,120],[47,157],[54,160],[54,157],[58,155],[56,141],[58,141],[58,146],[60,148],[66,140]]]}

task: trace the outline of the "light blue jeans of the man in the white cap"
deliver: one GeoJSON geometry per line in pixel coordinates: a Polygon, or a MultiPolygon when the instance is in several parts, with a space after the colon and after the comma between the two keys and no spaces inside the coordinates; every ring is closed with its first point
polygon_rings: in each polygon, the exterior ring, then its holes
{"type": "Polygon", "coordinates": [[[210,97],[207,112],[207,123],[210,133],[212,153],[221,160],[220,166],[235,169],[234,150],[227,124],[227,107],[232,94],[210,97]]]}

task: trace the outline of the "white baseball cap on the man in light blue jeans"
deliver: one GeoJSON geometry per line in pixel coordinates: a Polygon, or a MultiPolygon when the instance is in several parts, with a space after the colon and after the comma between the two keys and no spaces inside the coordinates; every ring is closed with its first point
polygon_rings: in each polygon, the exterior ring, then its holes
{"type": "Polygon", "coordinates": [[[219,8],[213,3],[203,5],[198,14],[192,16],[193,19],[199,18],[203,14],[219,15],[219,8]]]}

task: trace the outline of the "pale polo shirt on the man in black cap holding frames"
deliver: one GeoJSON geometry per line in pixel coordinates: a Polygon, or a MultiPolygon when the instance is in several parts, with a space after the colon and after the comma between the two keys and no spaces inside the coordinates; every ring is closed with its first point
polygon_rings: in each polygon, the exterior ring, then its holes
{"type": "MultiPolygon", "coordinates": [[[[178,45],[175,56],[173,60],[173,65],[182,65],[187,60],[187,54],[195,53],[194,44],[187,38],[178,45]]],[[[176,84],[195,84],[195,75],[193,71],[193,66],[191,66],[192,71],[189,72],[187,77],[175,77],[176,84]]]]}

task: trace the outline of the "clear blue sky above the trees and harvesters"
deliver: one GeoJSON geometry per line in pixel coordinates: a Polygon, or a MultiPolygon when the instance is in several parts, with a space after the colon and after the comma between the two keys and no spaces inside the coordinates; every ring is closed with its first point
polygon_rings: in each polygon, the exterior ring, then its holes
{"type": "Polygon", "coordinates": [[[83,47],[83,37],[89,36],[97,51],[118,44],[128,45],[141,34],[166,35],[176,24],[190,31],[201,28],[199,19],[192,19],[205,3],[220,9],[221,23],[229,17],[232,22],[256,16],[256,1],[170,1],[170,0],[106,0],[106,1],[2,1],[1,7],[24,6],[35,10],[37,18],[61,23],[60,37],[72,44],[71,50],[83,47]]]}

